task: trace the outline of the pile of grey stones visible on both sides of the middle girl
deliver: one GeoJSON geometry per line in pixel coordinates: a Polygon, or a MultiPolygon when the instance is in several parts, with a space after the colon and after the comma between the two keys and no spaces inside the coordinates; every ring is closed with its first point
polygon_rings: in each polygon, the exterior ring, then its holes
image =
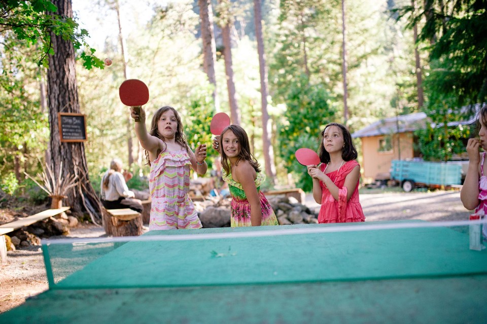
{"type": "MultiPolygon", "coordinates": [[[[275,196],[268,200],[280,225],[318,223],[318,212],[298,203],[294,197],[275,196]]],[[[194,201],[203,227],[230,227],[230,201],[231,198],[221,197],[194,201]]]]}

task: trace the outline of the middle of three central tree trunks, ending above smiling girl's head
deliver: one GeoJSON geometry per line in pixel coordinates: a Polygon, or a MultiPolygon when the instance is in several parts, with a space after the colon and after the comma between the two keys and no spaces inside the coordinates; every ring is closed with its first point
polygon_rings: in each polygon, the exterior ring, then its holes
{"type": "Polygon", "coordinates": [[[225,74],[227,76],[228,103],[230,105],[230,119],[232,120],[232,124],[240,125],[240,110],[238,109],[237,100],[235,98],[235,82],[233,81],[232,42],[230,36],[230,24],[228,22],[222,27],[222,39],[225,74]]]}

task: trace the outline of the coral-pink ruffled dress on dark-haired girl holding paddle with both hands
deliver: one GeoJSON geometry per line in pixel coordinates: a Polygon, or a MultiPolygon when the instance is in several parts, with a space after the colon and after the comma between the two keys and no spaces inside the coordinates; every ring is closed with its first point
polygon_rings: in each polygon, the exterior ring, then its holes
{"type": "MultiPolygon", "coordinates": [[[[347,161],[338,170],[326,174],[339,188],[339,201],[336,201],[335,198],[333,198],[330,190],[328,190],[323,182],[320,181],[322,197],[318,223],[351,223],[365,221],[364,212],[362,211],[362,206],[359,201],[359,181],[357,180],[357,186],[349,201],[346,201],[347,189],[343,186],[345,177],[358,165],[356,160],[347,161]]],[[[320,168],[321,171],[325,172],[326,164],[322,163],[320,168]]]]}

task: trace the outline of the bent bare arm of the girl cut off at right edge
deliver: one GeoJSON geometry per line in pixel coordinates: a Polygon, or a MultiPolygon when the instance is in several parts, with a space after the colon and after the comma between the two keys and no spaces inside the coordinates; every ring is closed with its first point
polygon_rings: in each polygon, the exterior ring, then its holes
{"type": "Polygon", "coordinates": [[[463,206],[468,210],[475,209],[478,202],[478,179],[480,175],[480,154],[478,149],[480,143],[476,138],[471,138],[467,143],[468,169],[465,181],[460,191],[460,199],[463,206]]]}

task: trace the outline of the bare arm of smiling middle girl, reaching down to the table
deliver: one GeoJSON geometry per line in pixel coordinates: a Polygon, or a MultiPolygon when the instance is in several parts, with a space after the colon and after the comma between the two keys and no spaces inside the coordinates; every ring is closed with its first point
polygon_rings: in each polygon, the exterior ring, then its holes
{"type": "Polygon", "coordinates": [[[252,226],[260,226],[262,224],[262,206],[254,182],[257,177],[254,168],[247,161],[240,161],[232,168],[232,177],[242,185],[247,200],[249,200],[252,226]]]}

